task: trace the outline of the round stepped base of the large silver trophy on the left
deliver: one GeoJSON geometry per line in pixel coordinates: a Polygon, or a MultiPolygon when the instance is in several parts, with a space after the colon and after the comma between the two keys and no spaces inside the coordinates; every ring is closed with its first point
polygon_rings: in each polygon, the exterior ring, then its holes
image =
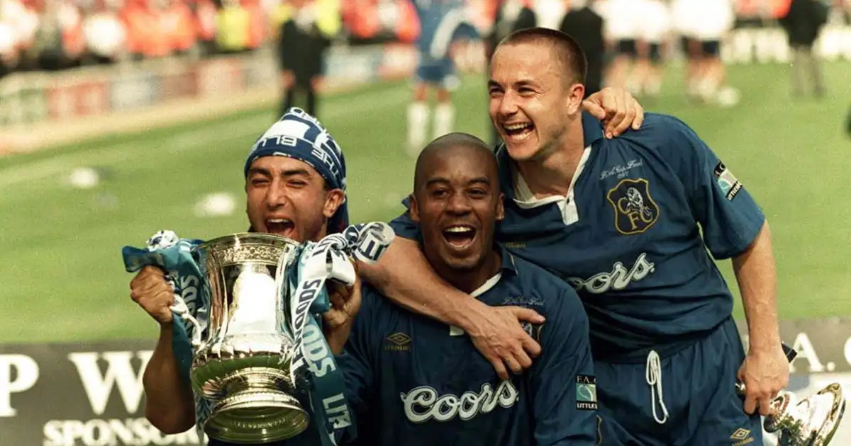
{"type": "Polygon", "coordinates": [[[210,408],[204,432],[220,441],[259,444],[292,438],[310,420],[299,400],[281,390],[282,370],[248,368],[222,378],[225,398],[210,408]]]}

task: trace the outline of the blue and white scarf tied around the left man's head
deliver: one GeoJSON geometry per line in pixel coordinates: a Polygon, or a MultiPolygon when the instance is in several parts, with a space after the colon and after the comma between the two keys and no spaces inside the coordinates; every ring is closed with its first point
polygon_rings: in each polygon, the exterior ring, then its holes
{"type": "MultiPolygon", "coordinates": [[[[251,147],[245,160],[245,177],[254,160],[262,156],[289,156],[304,161],[319,172],[331,189],[346,193],[346,159],[343,150],[325,127],[305,110],[293,107],[269,127],[251,147]]],[[[346,197],[328,221],[328,234],[341,232],[349,225],[346,197]]]]}

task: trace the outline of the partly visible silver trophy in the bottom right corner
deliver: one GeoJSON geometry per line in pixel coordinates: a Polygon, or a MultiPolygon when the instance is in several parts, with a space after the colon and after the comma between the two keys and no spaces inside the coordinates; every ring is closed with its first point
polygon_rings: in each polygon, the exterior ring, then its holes
{"type": "MultiPolygon", "coordinates": [[[[784,344],[789,362],[797,352],[784,344]]],[[[736,390],[745,393],[745,384],[736,383],[736,390]]],[[[791,392],[782,392],[771,402],[771,413],[762,426],[766,432],[777,432],[778,446],[827,446],[837,432],[845,413],[842,386],[833,383],[808,398],[796,401],[791,392]]]]}

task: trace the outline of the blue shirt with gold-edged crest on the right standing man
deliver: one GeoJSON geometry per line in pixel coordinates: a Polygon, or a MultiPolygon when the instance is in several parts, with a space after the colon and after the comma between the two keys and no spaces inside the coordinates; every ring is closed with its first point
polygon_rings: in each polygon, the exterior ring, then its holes
{"type": "MultiPolygon", "coordinates": [[[[733,298],[712,257],[735,257],[765,220],[751,195],[683,121],[647,114],[603,138],[584,114],[585,153],[568,195],[536,200],[497,152],[505,220],[497,238],[579,293],[596,359],[671,352],[728,319],[733,298]]],[[[392,222],[415,238],[407,215],[392,222]]]]}

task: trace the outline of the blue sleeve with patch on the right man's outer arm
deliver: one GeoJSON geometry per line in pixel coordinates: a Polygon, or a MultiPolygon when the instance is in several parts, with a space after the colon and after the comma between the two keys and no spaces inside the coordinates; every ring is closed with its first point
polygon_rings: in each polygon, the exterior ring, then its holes
{"type": "Polygon", "coordinates": [[[740,255],[765,223],[762,210],[694,130],[679,120],[669,128],[669,150],[685,157],[678,173],[694,219],[703,230],[705,245],[717,260],[740,255]]]}

